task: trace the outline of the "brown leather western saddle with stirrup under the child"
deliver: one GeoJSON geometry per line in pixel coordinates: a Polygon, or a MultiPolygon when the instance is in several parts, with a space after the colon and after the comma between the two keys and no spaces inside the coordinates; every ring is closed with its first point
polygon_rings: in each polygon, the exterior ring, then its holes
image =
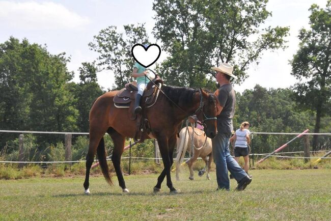
{"type": "Polygon", "coordinates": [[[134,100],[138,93],[136,82],[127,83],[113,98],[114,104],[117,108],[128,108],[130,120],[136,120],[137,129],[134,136],[134,141],[136,143],[143,142],[143,140],[141,140],[143,132],[149,133],[151,131],[149,120],[146,118],[146,109],[156,103],[160,92],[158,88],[161,88],[162,84],[163,81],[157,74],[152,81],[148,82],[141,102],[142,114],[140,115],[134,114],[134,100]],[[157,87],[155,85],[157,85],[157,87]]]}

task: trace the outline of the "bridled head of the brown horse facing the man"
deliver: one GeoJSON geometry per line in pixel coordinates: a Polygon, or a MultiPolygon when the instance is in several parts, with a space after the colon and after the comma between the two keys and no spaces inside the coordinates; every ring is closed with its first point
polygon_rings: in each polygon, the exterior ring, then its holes
{"type": "Polygon", "coordinates": [[[216,115],[219,113],[216,104],[215,95],[200,88],[200,106],[196,111],[196,115],[203,123],[206,135],[210,138],[214,138],[217,134],[216,115]]]}

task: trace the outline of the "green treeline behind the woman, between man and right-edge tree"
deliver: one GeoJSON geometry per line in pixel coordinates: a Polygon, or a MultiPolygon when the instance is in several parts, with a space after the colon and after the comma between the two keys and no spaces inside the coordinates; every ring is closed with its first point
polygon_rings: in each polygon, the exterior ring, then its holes
{"type": "MultiPolygon", "coordinates": [[[[313,127],[312,115],[297,110],[290,89],[265,89],[256,85],[253,90],[237,94],[234,128],[249,121],[255,132],[302,132],[313,127]]],[[[270,153],[292,139],[292,135],[254,135],[254,152],[270,153]]],[[[302,151],[302,140],[291,143],[284,151],[302,151]]]]}

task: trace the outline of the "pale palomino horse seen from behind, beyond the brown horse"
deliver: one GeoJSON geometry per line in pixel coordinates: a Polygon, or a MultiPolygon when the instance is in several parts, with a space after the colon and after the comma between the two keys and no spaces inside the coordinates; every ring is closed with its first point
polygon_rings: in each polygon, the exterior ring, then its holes
{"type": "Polygon", "coordinates": [[[187,130],[186,127],[184,127],[179,132],[179,138],[177,139],[176,179],[179,180],[180,165],[185,156],[185,152],[191,152],[191,138],[193,133],[194,151],[193,153],[191,153],[192,157],[185,161],[189,168],[188,179],[194,180],[192,166],[193,163],[200,156],[205,161],[206,165],[203,170],[199,171],[199,176],[202,176],[207,169],[207,179],[209,180],[210,165],[213,160],[211,139],[209,137],[206,137],[204,132],[198,128],[194,128],[193,131],[192,127],[187,127],[187,130]],[[208,160],[207,156],[209,157],[208,160]]]}

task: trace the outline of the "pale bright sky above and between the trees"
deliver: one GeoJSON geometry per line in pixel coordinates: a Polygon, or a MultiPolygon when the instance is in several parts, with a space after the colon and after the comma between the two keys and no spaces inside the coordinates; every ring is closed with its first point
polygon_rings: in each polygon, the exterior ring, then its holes
{"type": "MultiPolygon", "coordinates": [[[[298,47],[298,30],[309,27],[308,9],[312,4],[321,8],[326,0],[270,0],[267,9],[272,12],[265,25],[290,26],[287,49],[265,52],[259,65],[252,65],[247,78],[235,90],[253,89],[256,84],[266,88],[286,88],[297,81],[290,75],[289,60],[298,47]]],[[[116,25],[146,23],[152,36],[154,12],[149,0],[86,0],[86,1],[0,1],[0,42],[13,36],[27,38],[30,43],[46,44],[50,53],[66,52],[71,56],[68,69],[74,71],[78,82],[78,67],[82,62],[92,62],[97,54],[89,50],[101,29],[116,25]]],[[[164,58],[164,57],[163,57],[164,58]]],[[[161,58],[162,59],[162,54],[161,58]]],[[[151,67],[152,68],[152,67],[151,67]]],[[[98,74],[98,82],[105,89],[114,83],[113,73],[98,74]]]]}

